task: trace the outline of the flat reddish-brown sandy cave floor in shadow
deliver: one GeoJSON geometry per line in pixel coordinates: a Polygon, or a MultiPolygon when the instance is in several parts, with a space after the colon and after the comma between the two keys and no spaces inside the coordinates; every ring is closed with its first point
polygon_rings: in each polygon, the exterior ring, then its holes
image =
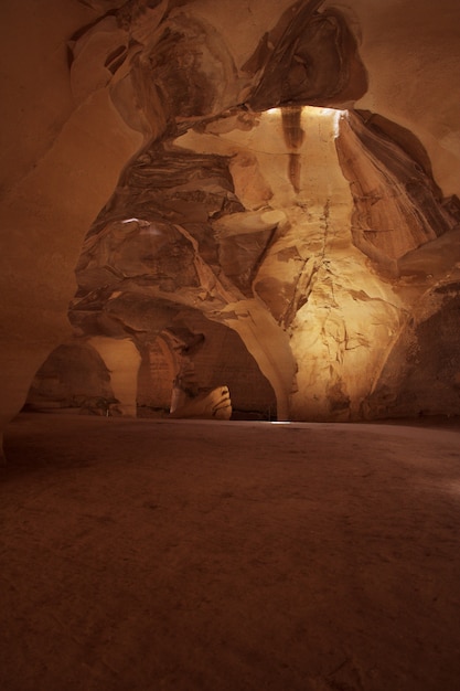
{"type": "Polygon", "coordinates": [[[459,691],[460,433],[21,415],[2,691],[459,691]]]}

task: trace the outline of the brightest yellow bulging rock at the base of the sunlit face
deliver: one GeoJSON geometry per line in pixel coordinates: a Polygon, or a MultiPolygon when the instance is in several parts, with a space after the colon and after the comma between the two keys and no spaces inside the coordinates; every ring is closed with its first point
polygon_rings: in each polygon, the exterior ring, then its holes
{"type": "Polygon", "coordinates": [[[363,270],[362,258],[331,264],[319,272],[318,285],[292,325],[302,384],[291,403],[297,419],[359,419],[399,333],[399,301],[363,270]],[[352,287],[356,279],[360,290],[352,287]]]}

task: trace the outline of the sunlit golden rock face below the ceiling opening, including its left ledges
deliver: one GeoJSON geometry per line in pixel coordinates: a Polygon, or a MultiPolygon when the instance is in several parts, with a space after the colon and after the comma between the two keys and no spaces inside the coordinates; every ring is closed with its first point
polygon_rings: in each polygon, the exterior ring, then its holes
{"type": "MultiPolygon", "coordinates": [[[[296,363],[284,381],[289,417],[349,419],[398,330],[400,304],[353,245],[353,200],[335,150],[341,114],[303,108],[299,116],[297,137],[282,111],[271,110],[250,130],[189,132],[180,141],[200,150],[223,150],[225,141],[233,157],[235,189],[249,211],[215,222],[221,237],[233,233],[243,243],[252,230],[260,233],[257,221],[277,221],[252,280],[253,309],[274,318],[270,348],[282,343],[296,363]],[[238,179],[238,157],[252,160],[258,200],[238,179]]],[[[263,329],[258,338],[266,340],[263,329]]]]}

